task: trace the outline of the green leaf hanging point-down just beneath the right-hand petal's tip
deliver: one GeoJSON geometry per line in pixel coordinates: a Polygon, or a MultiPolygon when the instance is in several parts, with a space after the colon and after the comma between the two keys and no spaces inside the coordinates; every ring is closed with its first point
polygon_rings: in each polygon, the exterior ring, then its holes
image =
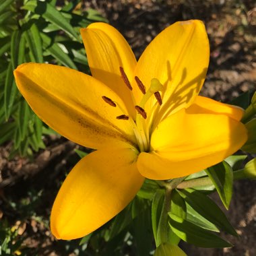
{"type": "Polygon", "coordinates": [[[232,198],[233,191],[233,170],[230,165],[223,161],[220,164],[216,164],[210,168],[207,168],[205,172],[210,177],[214,187],[220,195],[222,203],[228,210],[230,200],[232,198]]]}

